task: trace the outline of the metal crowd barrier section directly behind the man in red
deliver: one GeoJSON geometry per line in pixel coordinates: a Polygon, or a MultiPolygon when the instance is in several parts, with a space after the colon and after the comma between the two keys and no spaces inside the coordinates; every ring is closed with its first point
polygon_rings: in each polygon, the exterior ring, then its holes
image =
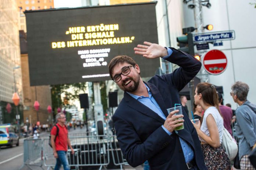
{"type": "MultiPolygon", "coordinates": [[[[71,169],[81,166],[99,166],[99,170],[106,169],[110,162],[109,140],[107,136],[86,136],[83,133],[69,134],[70,143],[75,154],[68,149],[67,158],[71,169]]],[[[56,159],[53,150],[48,144],[49,137],[43,139],[43,162],[47,169],[54,167],[56,159]]]]}

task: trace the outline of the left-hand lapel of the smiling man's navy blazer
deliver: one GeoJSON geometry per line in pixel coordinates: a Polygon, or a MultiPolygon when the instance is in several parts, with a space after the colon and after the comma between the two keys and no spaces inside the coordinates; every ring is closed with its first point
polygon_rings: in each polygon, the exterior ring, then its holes
{"type": "Polygon", "coordinates": [[[128,106],[131,108],[134,108],[135,110],[141,112],[144,115],[147,115],[161,123],[164,123],[164,119],[161,118],[156,112],[151,110],[150,108],[146,107],[141,102],[137,101],[133,97],[131,97],[127,92],[124,92],[124,99],[126,102],[128,102],[128,106]]]}

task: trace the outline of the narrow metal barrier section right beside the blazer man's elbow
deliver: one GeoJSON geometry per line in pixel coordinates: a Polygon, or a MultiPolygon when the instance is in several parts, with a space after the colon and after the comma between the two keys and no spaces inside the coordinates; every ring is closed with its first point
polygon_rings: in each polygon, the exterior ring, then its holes
{"type": "Polygon", "coordinates": [[[120,166],[120,169],[122,170],[123,165],[128,165],[127,160],[124,158],[124,155],[122,154],[122,151],[119,147],[117,136],[113,135],[110,136],[110,150],[113,158],[114,165],[120,166]]]}

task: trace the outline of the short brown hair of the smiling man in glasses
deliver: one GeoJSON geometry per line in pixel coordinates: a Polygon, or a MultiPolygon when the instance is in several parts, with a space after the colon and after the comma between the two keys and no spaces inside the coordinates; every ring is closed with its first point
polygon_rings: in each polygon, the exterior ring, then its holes
{"type": "Polygon", "coordinates": [[[119,64],[119,63],[128,63],[131,64],[132,66],[135,66],[135,64],[137,64],[134,59],[132,59],[131,57],[127,56],[127,55],[118,55],[115,56],[109,63],[109,74],[110,77],[113,78],[112,73],[113,73],[113,68],[115,65],[119,64]]]}

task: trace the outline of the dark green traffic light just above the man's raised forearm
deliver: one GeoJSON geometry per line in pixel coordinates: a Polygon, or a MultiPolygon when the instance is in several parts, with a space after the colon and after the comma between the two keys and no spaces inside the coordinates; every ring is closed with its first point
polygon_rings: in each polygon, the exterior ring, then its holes
{"type": "Polygon", "coordinates": [[[187,33],[186,36],[177,37],[177,42],[180,51],[189,53],[192,56],[195,55],[192,33],[187,33]]]}

